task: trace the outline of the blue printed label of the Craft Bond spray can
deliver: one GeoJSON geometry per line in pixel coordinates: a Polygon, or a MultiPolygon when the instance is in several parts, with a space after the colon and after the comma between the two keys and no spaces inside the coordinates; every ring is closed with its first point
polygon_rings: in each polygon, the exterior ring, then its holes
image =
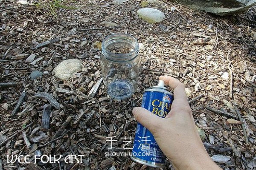
{"type": "MultiPolygon", "coordinates": [[[[151,113],[165,118],[171,110],[173,96],[159,91],[145,91],[141,107],[151,111],[151,113]]],[[[134,148],[132,150],[134,159],[145,164],[165,164],[166,156],[160,150],[152,133],[140,123],[134,137],[134,148]],[[144,154],[142,154],[144,153],[144,154]],[[136,156],[135,156],[136,155],[136,156]]],[[[155,166],[156,167],[156,166],[155,166]]]]}

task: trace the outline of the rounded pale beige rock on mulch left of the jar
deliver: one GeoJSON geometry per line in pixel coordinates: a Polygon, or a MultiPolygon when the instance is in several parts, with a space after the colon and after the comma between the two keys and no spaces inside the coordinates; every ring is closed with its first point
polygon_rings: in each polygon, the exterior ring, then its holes
{"type": "Polygon", "coordinates": [[[82,70],[82,62],[78,59],[67,59],[62,61],[52,71],[56,77],[62,80],[73,77],[73,74],[82,70]]]}

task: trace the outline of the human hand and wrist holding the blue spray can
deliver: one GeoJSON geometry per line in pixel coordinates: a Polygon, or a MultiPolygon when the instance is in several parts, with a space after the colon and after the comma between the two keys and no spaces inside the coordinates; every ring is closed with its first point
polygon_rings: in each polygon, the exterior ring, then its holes
{"type": "Polygon", "coordinates": [[[187,102],[185,86],[177,79],[161,76],[166,85],[174,91],[171,111],[163,119],[136,107],[133,114],[138,122],[154,136],[160,149],[177,170],[219,170],[209,157],[198,135],[190,106],[187,102]]]}

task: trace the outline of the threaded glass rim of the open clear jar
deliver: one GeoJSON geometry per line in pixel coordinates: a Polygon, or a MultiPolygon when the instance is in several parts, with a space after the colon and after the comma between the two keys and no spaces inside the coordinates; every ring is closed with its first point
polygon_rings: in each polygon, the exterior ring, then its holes
{"type": "Polygon", "coordinates": [[[112,34],[109,35],[108,37],[106,37],[103,42],[102,42],[102,54],[107,54],[107,57],[104,55],[104,57],[106,59],[109,59],[113,62],[127,62],[130,60],[133,60],[134,58],[137,57],[138,53],[139,53],[139,43],[138,41],[132,37],[131,35],[128,34],[112,34]],[[130,40],[134,43],[134,49],[133,51],[126,53],[126,54],[116,54],[116,53],[112,53],[110,51],[108,51],[106,49],[106,46],[108,45],[108,41],[113,40],[114,38],[119,38],[119,39],[123,39],[123,40],[130,40]],[[116,59],[122,59],[121,61],[116,60],[116,59]]]}

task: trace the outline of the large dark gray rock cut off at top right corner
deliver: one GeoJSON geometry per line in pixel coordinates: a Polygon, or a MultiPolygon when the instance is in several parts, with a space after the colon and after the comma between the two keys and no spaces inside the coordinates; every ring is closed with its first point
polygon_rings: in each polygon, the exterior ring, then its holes
{"type": "Polygon", "coordinates": [[[177,0],[177,2],[221,16],[245,12],[256,4],[256,0],[177,0]]]}

